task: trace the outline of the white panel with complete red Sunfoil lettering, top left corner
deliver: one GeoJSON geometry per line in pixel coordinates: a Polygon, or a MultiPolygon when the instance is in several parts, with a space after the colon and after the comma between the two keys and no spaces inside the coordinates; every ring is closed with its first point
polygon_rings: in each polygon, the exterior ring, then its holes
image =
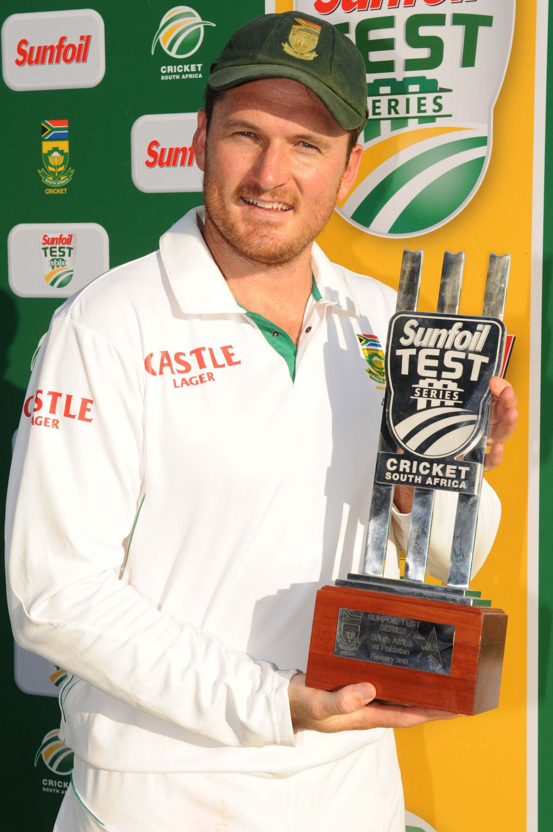
{"type": "Polygon", "coordinates": [[[12,14],[2,25],[2,75],[12,90],[95,87],[104,72],[104,21],[91,8],[12,14]]]}

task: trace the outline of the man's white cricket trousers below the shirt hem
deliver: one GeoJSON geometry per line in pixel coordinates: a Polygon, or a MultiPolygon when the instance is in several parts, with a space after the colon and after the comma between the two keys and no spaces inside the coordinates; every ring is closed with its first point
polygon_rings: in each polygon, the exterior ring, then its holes
{"type": "Polygon", "coordinates": [[[130,774],[76,758],[54,832],[405,832],[389,744],[392,731],[343,760],[281,779],[130,774]]]}

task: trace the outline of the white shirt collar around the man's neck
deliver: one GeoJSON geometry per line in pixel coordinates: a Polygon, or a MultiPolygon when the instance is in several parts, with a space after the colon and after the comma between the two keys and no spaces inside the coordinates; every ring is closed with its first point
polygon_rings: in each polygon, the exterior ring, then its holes
{"type": "MultiPolygon", "coordinates": [[[[193,208],[159,240],[159,252],[169,284],[184,314],[243,314],[227,281],[205,244],[198,221],[205,210],[193,208]]],[[[339,266],[313,244],[311,268],[322,295],[321,303],[359,314],[350,286],[339,266]]]]}

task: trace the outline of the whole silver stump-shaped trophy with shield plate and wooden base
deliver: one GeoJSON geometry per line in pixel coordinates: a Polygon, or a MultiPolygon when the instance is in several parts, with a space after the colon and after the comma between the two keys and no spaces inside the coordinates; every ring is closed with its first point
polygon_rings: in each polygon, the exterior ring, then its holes
{"type": "Polygon", "coordinates": [[[363,574],[317,592],[306,685],[370,681],[378,699],[472,715],[497,707],[507,615],[469,590],[510,255],[491,255],[482,315],[458,314],[446,252],[437,312],[418,312],[423,252],[404,251],[363,574]],[[414,487],[404,578],[384,578],[394,485],[414,487]],[[448,582],[424,582],[434,494],[458,494],[448,582]]]}

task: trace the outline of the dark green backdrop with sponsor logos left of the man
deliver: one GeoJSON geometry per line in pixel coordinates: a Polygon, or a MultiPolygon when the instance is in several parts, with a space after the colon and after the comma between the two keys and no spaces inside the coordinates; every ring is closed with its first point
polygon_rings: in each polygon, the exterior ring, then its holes
{"type": "MultiPolygon", "coordinates": [[[[170,0],[59,7],[2,2],[2,507],[10,438],[51,314],[95,275],[155,250],[201,203],[189,148],[209,66],[238,26],[265,12],[263,0],[194,0],[177,12],[170,0]]],[[[2,644],[2,823],[51,832],[72,765],[57,739],[64,674],[18,648],[13,669],[5,603],[2,644]]]]}

